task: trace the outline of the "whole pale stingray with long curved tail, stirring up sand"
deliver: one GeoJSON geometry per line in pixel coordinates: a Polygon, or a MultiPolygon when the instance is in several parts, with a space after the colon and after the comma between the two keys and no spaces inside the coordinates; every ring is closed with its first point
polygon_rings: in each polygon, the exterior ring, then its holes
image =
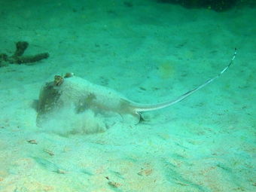
{"type": "Polygon", "coordinates": [[[58,112],[65,106],[66,108],[74,107],[77,113],[91,109],[96,113],[105,111],[106,113],[114,112],[121,116],[130,114],[140,122],[143,120],[142,112],[154,111],[174,105],[215,81],[231,66],[235,57],[236,50],[229,64],[218,75],[178,96],[176,99],[156,104],[133,102],[115,90],[93,84],[84,78],[76,77],[72,73],[67,73],[64,77],[56,75],[54,81],[47,82],[41,89],[38,101],[38,118],[52,111],[58,112]]]}

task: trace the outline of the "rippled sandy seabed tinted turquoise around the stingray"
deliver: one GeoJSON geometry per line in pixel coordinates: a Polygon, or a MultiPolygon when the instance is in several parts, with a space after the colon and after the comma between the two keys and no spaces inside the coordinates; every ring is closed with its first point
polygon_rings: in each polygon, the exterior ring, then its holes
{"type": "Polygon", "coordinates": [[[2,1],[0,10],[0,53],[17,41],[29,42],[26,54],[50,53],[0,68],[1,192],[255,191],[253,8],[45,0],[2,1]],[[163,102],[217,75],[235,47],[221,78],[139,124],[69,136],[36,125],[35,100],[54,75],[163,102]]]}

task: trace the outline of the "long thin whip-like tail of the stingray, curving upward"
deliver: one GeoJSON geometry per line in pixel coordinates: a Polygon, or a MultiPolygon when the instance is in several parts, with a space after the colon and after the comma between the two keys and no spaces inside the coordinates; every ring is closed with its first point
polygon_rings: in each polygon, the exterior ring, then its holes
{"type": "Polygon", "coordinates": [[[209,80],[207,80],[205,83],[201,84],[200,86],[195,87],[193,90],[187,91],[187,93],[184,93],[183,95],[179,96],[177,99],[174,99],[174,100],[169,101],[169,102],[161,102],[161,103],[157,103],[157,104],[153,104],[153,105],[142,105],[142,104],[134,103],[133,108],[137,112],[154,111],[154,110],[157,110],[157,109],[160,109],[160,108],[166,108],[170,105],[174,105],[177,102],[181,102],[183,99],[192,95],[197,90],[200,90],[201,88],[205,87],[207,84],[209,84],[212,81],[215,81],[215,79],[219,78],[231,66],[231,64],[233,63],[233,60],[235,58],[236,58],[236,49],[235,49],[235,53],[233,54],[233,58],[230,60],[230,63],[218,75],[216,75],[214,78],[210,78],[209,80]]]}

